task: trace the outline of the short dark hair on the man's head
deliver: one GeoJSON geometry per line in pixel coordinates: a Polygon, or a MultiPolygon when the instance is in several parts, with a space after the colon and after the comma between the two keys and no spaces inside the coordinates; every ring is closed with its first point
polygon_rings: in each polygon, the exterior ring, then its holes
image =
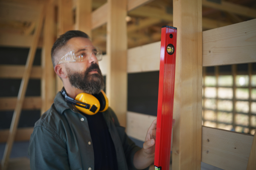
{"type": "Polygon", "coordinates": [[[71,30],[65,32],[65,34],[62,34],[52,45],[52,51],[51,51],[51,56],[52,56],[52,64],[53,67],[55,67],[55,58],[58,50],[63,47],[64,45],[67,44],[68,40],[74,37],[83,37],[83,38],[90,38],[86,33],[83,31],[79,30],[71,30]]]}

